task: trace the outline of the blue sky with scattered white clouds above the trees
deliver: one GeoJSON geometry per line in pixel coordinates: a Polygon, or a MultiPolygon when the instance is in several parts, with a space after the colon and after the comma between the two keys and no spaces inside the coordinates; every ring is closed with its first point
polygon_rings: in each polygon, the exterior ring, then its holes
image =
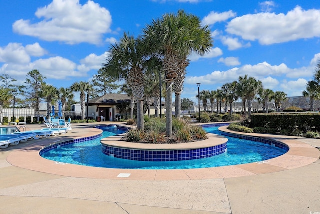
{"type": "MultiPolygon", "coordinates": [[[[0,0],[0,74],[22,85],[32,69],[69,87],[90,81],[123,32],[137,36],[164,13],[184,9],[212,31],[214,47],[189,56],[182,97],[248,74],[264,88],[301,96],[320,62],[319,1],[0,0]]],[[[75,100],[79,100],[75,97],[75,100]]]]}

